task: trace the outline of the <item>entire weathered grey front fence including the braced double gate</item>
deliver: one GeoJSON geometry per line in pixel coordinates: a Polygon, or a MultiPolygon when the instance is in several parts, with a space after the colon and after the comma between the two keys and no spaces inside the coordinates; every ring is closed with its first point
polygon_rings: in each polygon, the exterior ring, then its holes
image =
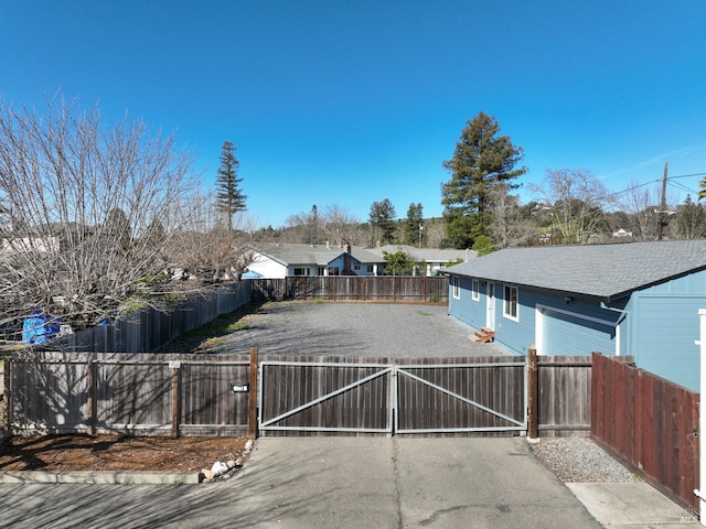
{"type": "MultiPolygon", "coordinates": [[[[13,433],[217,436],[249,432],[254,435],[258,386],[253,354],[200,357],[38,353],[32,360],[9,359],[4,375],[9,430],[13,433]],[[247,386],[248,392],[234,392],[234,385],[240,390],[247,386]]],[[[320,397],[318,392],[349,385],[356,377],[375,370],[375,367],[361,370],[351,367],[352,364],[381,367],[394,364],[404,367],[397,375],[399,392],[395,397],[403,411],[396,418],[398,431],[442,435],[443,430],[458,424],[479,427],[478,431],[484,429],[485,435],[498,434],[491,430],[500,431],[504,427],[509,427],[505,434],[524,430],[512,420],[524,422],[525,357],[389,359],[267,355],[261,359],[340,364],[336,369],[311,366],[264,371],[263,387],[267,395],[261,412],[266,420],[276,417],[282,406],[296,408],[306,399],[320,397]],[[468,367],[479,363],[514,365],[468,367]],[[432,367],[440,364],[443,369],[432,367]],[[430,384],[419,384],[414,377],[430,384]],[[496,410],[511,421],[469,407],[468,402],[445,395],[435,386],[496,410]]],[[[542,434],[570,434],[581,430],[588,433],[590,365],[587,358],[541,357],[537,379],[542,434]]],[[[379,377],[371,384],[350,388],[340,398],[311,407],[285,424],[315,423],[323,418],[334,430],[386,428],[381,424],[389,417],[388,384],[388,378],[379,377]]]]}

